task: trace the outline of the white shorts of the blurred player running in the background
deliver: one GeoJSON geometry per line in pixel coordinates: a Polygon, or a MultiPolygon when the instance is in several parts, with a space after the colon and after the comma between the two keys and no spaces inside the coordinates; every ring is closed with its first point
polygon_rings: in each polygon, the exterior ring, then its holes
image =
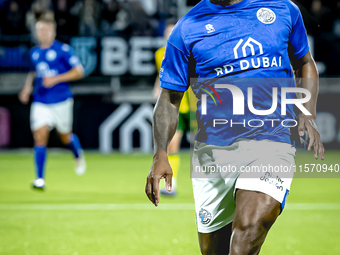
{"type": "Polygon", "coordinates": [[[58,132],[62,134],[71,132],[73,125],[73,98],[68,98],[56,104],[33,102],[30,121],[32,131],[48,126],[50,129],[57,128],[58,132]]]}

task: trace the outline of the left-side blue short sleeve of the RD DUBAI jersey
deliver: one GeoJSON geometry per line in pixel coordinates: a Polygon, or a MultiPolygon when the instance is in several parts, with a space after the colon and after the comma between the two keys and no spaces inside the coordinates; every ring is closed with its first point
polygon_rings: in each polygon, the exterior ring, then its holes
{"type": "Polygon", "coordinates": [[[177,23],[169,37],[159,78],[162,88],[184,92],[189,87],[190,53],[183,42],[181,24],[177,23]]]}

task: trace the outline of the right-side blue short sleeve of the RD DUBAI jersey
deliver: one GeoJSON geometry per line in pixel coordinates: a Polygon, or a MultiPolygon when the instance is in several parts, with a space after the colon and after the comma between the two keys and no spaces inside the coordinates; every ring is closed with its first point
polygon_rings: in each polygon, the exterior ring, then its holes
{"type": "Polygon", "coordinates": [[[292,18],[292,31],[289,37],[290,53],[299,59],[309,51],[307,32],[299,8],[291,2],[288,7],[292,18]]]}

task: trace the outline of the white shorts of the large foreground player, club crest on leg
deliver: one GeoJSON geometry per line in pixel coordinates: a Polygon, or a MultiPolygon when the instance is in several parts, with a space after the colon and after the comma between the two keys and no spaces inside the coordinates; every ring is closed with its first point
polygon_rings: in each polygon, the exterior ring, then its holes
{"type": "Polygon", "coordinates": [[[192,184],[200,233],[233,221],[237,189],[265,193],[283,209],[295,170],[295,148],[269,140],[241,140],[230,146],[195,142],[192,184]]]}

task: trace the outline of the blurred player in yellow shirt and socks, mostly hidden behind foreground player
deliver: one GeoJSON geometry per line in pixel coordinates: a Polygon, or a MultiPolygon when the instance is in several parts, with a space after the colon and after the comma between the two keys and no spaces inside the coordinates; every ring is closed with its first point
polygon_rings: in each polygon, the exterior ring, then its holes
{"type": "MultiPolygon", "coordinates": [[[[169,21],[167,23],[167,26],[164,30],[164,38],[168,40],[172,29],[174,28],[176,22],[169,21]]],[[[158,49],[155,53],[155,59],[156,59],[156,66],[158,73],[160,72],[162,60],[164,58],[165,48],[162,47],[158,49]]],[[[154,86],[154,98],[157,99],[160,92],[160,80],[159,76],[157,76],[154,86]]],[[[160,193],[162,195],[169,195],[169,196],[175,196],[177,192],[177,176],[178,176],[178,170],[180,166],[180,157],[178,155],[178,152],[180,150],[181,141],[183,134],[190,131],[190,102],[189,102],[189,91],[186,91],[181,106],[179,108],[179,121],[176,133],[174,137],[172,138],[170,144],[169,144],[169,162],[173,171],[173,179],[172,179],[172,190],[168,191],[165,186],[161,188],[160,193]]]]}

